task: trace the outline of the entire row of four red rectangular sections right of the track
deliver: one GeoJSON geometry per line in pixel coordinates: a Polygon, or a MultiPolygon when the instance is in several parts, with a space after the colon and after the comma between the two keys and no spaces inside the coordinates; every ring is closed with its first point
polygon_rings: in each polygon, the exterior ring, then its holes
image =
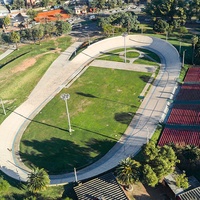
{"type": "Polygon", "coordinates": [[[188,70],[158,145],[174,143],[200,147],[200,67],[188,70]],[[194,102],[195,101],[195,102],[194,102]],[[195,128],[194,128],[195,126],[195,128]],[[195,130],[194,130],[195,129],[195,130]]]}

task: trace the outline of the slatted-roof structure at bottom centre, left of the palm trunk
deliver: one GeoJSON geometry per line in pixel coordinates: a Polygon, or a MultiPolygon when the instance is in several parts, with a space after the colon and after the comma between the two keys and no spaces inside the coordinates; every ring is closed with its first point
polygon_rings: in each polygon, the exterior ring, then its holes
{"type": "Polygon", "coordinates": [[[104,174],[74,187],[79,200],[128,200],[112,173],[104,174]]]}

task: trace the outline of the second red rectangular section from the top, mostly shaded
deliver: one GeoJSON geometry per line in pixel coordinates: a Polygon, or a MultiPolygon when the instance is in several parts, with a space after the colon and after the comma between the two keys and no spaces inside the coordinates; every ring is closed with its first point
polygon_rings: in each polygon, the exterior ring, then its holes
{"type": "Polygon", "coordinates": [[[182,85],[176,100],[200,100],[200,84],[182,85]]]}

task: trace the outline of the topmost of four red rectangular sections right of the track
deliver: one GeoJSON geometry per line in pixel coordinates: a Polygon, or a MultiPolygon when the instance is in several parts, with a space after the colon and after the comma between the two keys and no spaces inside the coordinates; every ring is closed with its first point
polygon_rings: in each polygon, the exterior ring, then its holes
{"type": "Polygon", "coordinates": [[[200,67],[189,68],[184,82],[200,82],[200,67]]]}

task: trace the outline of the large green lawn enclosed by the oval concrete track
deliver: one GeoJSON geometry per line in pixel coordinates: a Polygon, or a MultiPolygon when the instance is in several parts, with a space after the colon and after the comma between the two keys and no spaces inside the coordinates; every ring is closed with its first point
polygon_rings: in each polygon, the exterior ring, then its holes
{"type": "Polygon", "coordinates": [[[80,169],[109,151],[140,106],[149,73],[90,67],[70,88],[70,136],[65,103],[58,94],[24,133],[20,155],[50,174],[80,169]],[[128,81],[127,81],[128,80],[128,81]]]}

